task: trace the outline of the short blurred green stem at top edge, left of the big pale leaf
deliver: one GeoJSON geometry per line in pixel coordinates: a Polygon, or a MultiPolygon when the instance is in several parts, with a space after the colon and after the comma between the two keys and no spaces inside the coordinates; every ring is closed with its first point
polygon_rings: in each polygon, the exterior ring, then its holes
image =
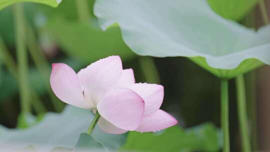
{"type": "Polygon", "coordinates": [[[89,11],[87,0],[75,0],[75,1],[76,1],[79,21],[83,23],[89,23],[90,11],[89,11]]]}

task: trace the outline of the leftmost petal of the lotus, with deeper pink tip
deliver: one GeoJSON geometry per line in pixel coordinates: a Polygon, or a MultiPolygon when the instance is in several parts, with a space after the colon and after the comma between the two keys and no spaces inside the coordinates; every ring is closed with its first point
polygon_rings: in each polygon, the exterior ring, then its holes
{"type": "Polygon", "coordinates": [[[83,98],[82,89],[75,71],[64,63],[52,64],[50,86],[54,94],[63,102],[81,108],[91,108],[92,104],[83,98]]]}

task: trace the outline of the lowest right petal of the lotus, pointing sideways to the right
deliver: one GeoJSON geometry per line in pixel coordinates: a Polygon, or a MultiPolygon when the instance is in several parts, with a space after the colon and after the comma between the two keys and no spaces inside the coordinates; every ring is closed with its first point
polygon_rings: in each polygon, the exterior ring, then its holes
{"type": "Polygon", "coordinates": [[[144,115],[139,127],[139,132],[155,132],[177,124],[177,120],[167,112],[159,109],[150,115],[144,115]]]}

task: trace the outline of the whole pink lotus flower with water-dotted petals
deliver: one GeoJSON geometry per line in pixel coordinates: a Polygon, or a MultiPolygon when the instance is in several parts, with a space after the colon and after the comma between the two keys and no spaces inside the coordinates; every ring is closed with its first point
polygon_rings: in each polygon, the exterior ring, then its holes
{"type": "Polygon", "coordinates": [[[98,125],[107,133],[158,131],[177,123],[159,109],[163,86],[135,83],[133,70],[122,69],[119,56],[100,59],[78,73],[64,63],[54,63],[50,85],[63,102],[97,110],[98,125]]]}

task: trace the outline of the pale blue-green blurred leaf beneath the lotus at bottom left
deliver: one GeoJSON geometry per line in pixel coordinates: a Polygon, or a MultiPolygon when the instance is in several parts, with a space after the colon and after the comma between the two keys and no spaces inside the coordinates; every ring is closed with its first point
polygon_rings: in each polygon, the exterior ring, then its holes
{"type": "MultiPolygon", "coordinates": [[[[43,120],[26,129],[8,129],[0,127],[0,151],[4,146],[12,149],[34,147],[37,150],[49,151],[55,147],[73,148],[81,132],[87,130],[93,114],[85,109],[67,106],[60,113],[48,113],[43,120]]],[[[98,126],[92,137],[108,150],[119,148],[126,135],[103,133],[98,126]]]]}

